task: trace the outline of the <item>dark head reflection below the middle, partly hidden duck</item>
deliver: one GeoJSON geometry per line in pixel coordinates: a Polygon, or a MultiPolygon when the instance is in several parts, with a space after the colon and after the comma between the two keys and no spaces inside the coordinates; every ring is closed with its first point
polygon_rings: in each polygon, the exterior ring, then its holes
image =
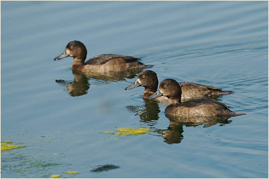
{"type": "Polygon", "coordinates": [[[139,115],[140,122],[148,123],[149,126],[156,124],[159,119],[159,104],[157,101],[145,100],[142,106],[126,106],[129,112],[135,113],[135,116],[139,115]]]}

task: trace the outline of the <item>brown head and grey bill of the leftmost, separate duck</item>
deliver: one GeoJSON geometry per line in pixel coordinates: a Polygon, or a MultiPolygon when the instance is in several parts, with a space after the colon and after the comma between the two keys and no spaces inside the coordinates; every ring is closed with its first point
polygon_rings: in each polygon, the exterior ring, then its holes
{"type": "Polygon", "coordinates": [[[71,41],[67,44],[64,52],[58,57],[54,58],[54,60],[61,60],[64,57],[74,57],[74,59],[80,59],[82,63],[84,63],[87,50],[86,47],[80,41],[71,41]]]}

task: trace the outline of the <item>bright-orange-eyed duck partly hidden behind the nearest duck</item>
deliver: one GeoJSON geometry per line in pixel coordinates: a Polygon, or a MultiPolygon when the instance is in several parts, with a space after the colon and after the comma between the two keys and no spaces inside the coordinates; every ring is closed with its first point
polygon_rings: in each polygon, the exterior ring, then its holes
{"type": "MultiPolygon", "coordinates": [[[[223,91],[221,88],[208,86],[204,84],[197,84],[192,82],[179,82],[181,87],[181,100],[189,100],[194,98],[208,97],[211,95],[224,95],[230,94],[232,91],[223,91]]],[[[158,78],[157,74],[151,70],[141,71],[136,80],[130,84],[127,89],[134,89],[135,87],[145,87],[142,98],[147,99],[149,96],[153,95],[158,88],[158,78]]],[[[156,100],[162,101],[167,100],[167,97],[160,96],[156,100]]]]}

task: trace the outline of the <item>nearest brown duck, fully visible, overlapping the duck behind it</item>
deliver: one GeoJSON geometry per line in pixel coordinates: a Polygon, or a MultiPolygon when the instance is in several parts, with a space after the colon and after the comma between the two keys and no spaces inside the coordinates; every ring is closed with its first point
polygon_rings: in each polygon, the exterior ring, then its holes
{"type": "Polygon", "coordinates": [[[166,96],[168,105],[164,110],[165,114],[180,117],[196,116],[240,116],[245,113],[231,111],[225,104],[211,98],[196,98],[181,102],[181,87],[174,79],[164,79],[159,85],[159,89],[148,100],[166,96]]]}

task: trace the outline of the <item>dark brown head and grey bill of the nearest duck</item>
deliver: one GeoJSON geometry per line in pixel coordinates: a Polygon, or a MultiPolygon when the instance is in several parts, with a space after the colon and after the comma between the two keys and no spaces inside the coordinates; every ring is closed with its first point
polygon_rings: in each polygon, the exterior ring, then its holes
{"type": "Polygon", "coordinates": [[[164,79],[159,85],[159,90],[148,97],[149,100],[166,96],[169,104],[181,103],[181,87],[174,79],[164,79]]]}

